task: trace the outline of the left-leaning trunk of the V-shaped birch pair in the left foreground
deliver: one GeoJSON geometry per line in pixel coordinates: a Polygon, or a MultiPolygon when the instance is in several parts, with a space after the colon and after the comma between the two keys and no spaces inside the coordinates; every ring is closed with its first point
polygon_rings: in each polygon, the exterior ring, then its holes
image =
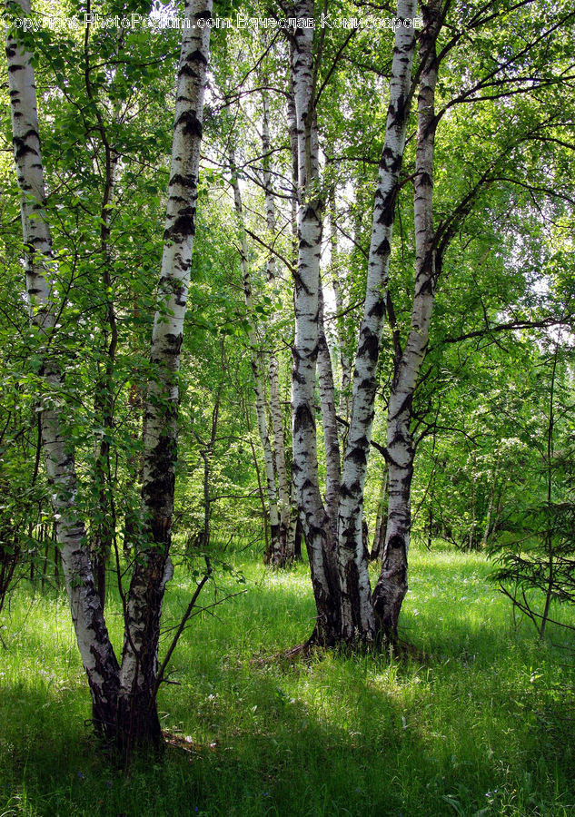
{"type": "MultiPolygon", "coordinates": [[[[20,5],[25,15],[30,14],[29,0],[22,0],[20,5]]],[[[40,416],[46,473],[53,491],[56,536],[74,631],[92,694],[94,725],[97,731],[111,734],[116,720],[118,663],[94,586],[84,523],[76,508],[74,454],[65,444],[64,410],[60,405],[64,378],[54,349],[57,271],[45,214],[33,54],[8,34],[6,56],[15,165],[21,192],[28,310],[40,344],[37,353],[42,367],[39,373],[45,386],[40,416]]]]}

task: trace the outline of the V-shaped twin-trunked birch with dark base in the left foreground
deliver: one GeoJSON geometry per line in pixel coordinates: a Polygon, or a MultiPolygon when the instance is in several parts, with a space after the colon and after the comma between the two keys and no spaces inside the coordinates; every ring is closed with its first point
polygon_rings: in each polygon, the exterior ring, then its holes
{"type": "MultiPolygon", "coordinates": [[[[21,5],[30,14],[29,0],[21,5]]],[[[45,182],[38,136],[33,54],[9,33],[6,43],[15,165],[21,191],[26,290],[30,322],[42,340],[41,404],[46,471],[53,487],[56,534],[76,640],[87,674],[96,730],[117,743],[161,740],[156,709],[159,624],[165,583],[170,577],[169,547],[177,457],[177,371],[183,340],[190,276],[195,205],[202,137],[203,92],[208,62],[211,0],[185,5],[178,68],[173,151],[145,409],[143,507],[145,536],[138,543],[124,602],[124,651],[119,664],[94,587],[84,525],[76,507],[74,451],[66,442],[58,395],[65,388],[51,342],[58,329],[57,269],[45,212],[45,182]]]]}

